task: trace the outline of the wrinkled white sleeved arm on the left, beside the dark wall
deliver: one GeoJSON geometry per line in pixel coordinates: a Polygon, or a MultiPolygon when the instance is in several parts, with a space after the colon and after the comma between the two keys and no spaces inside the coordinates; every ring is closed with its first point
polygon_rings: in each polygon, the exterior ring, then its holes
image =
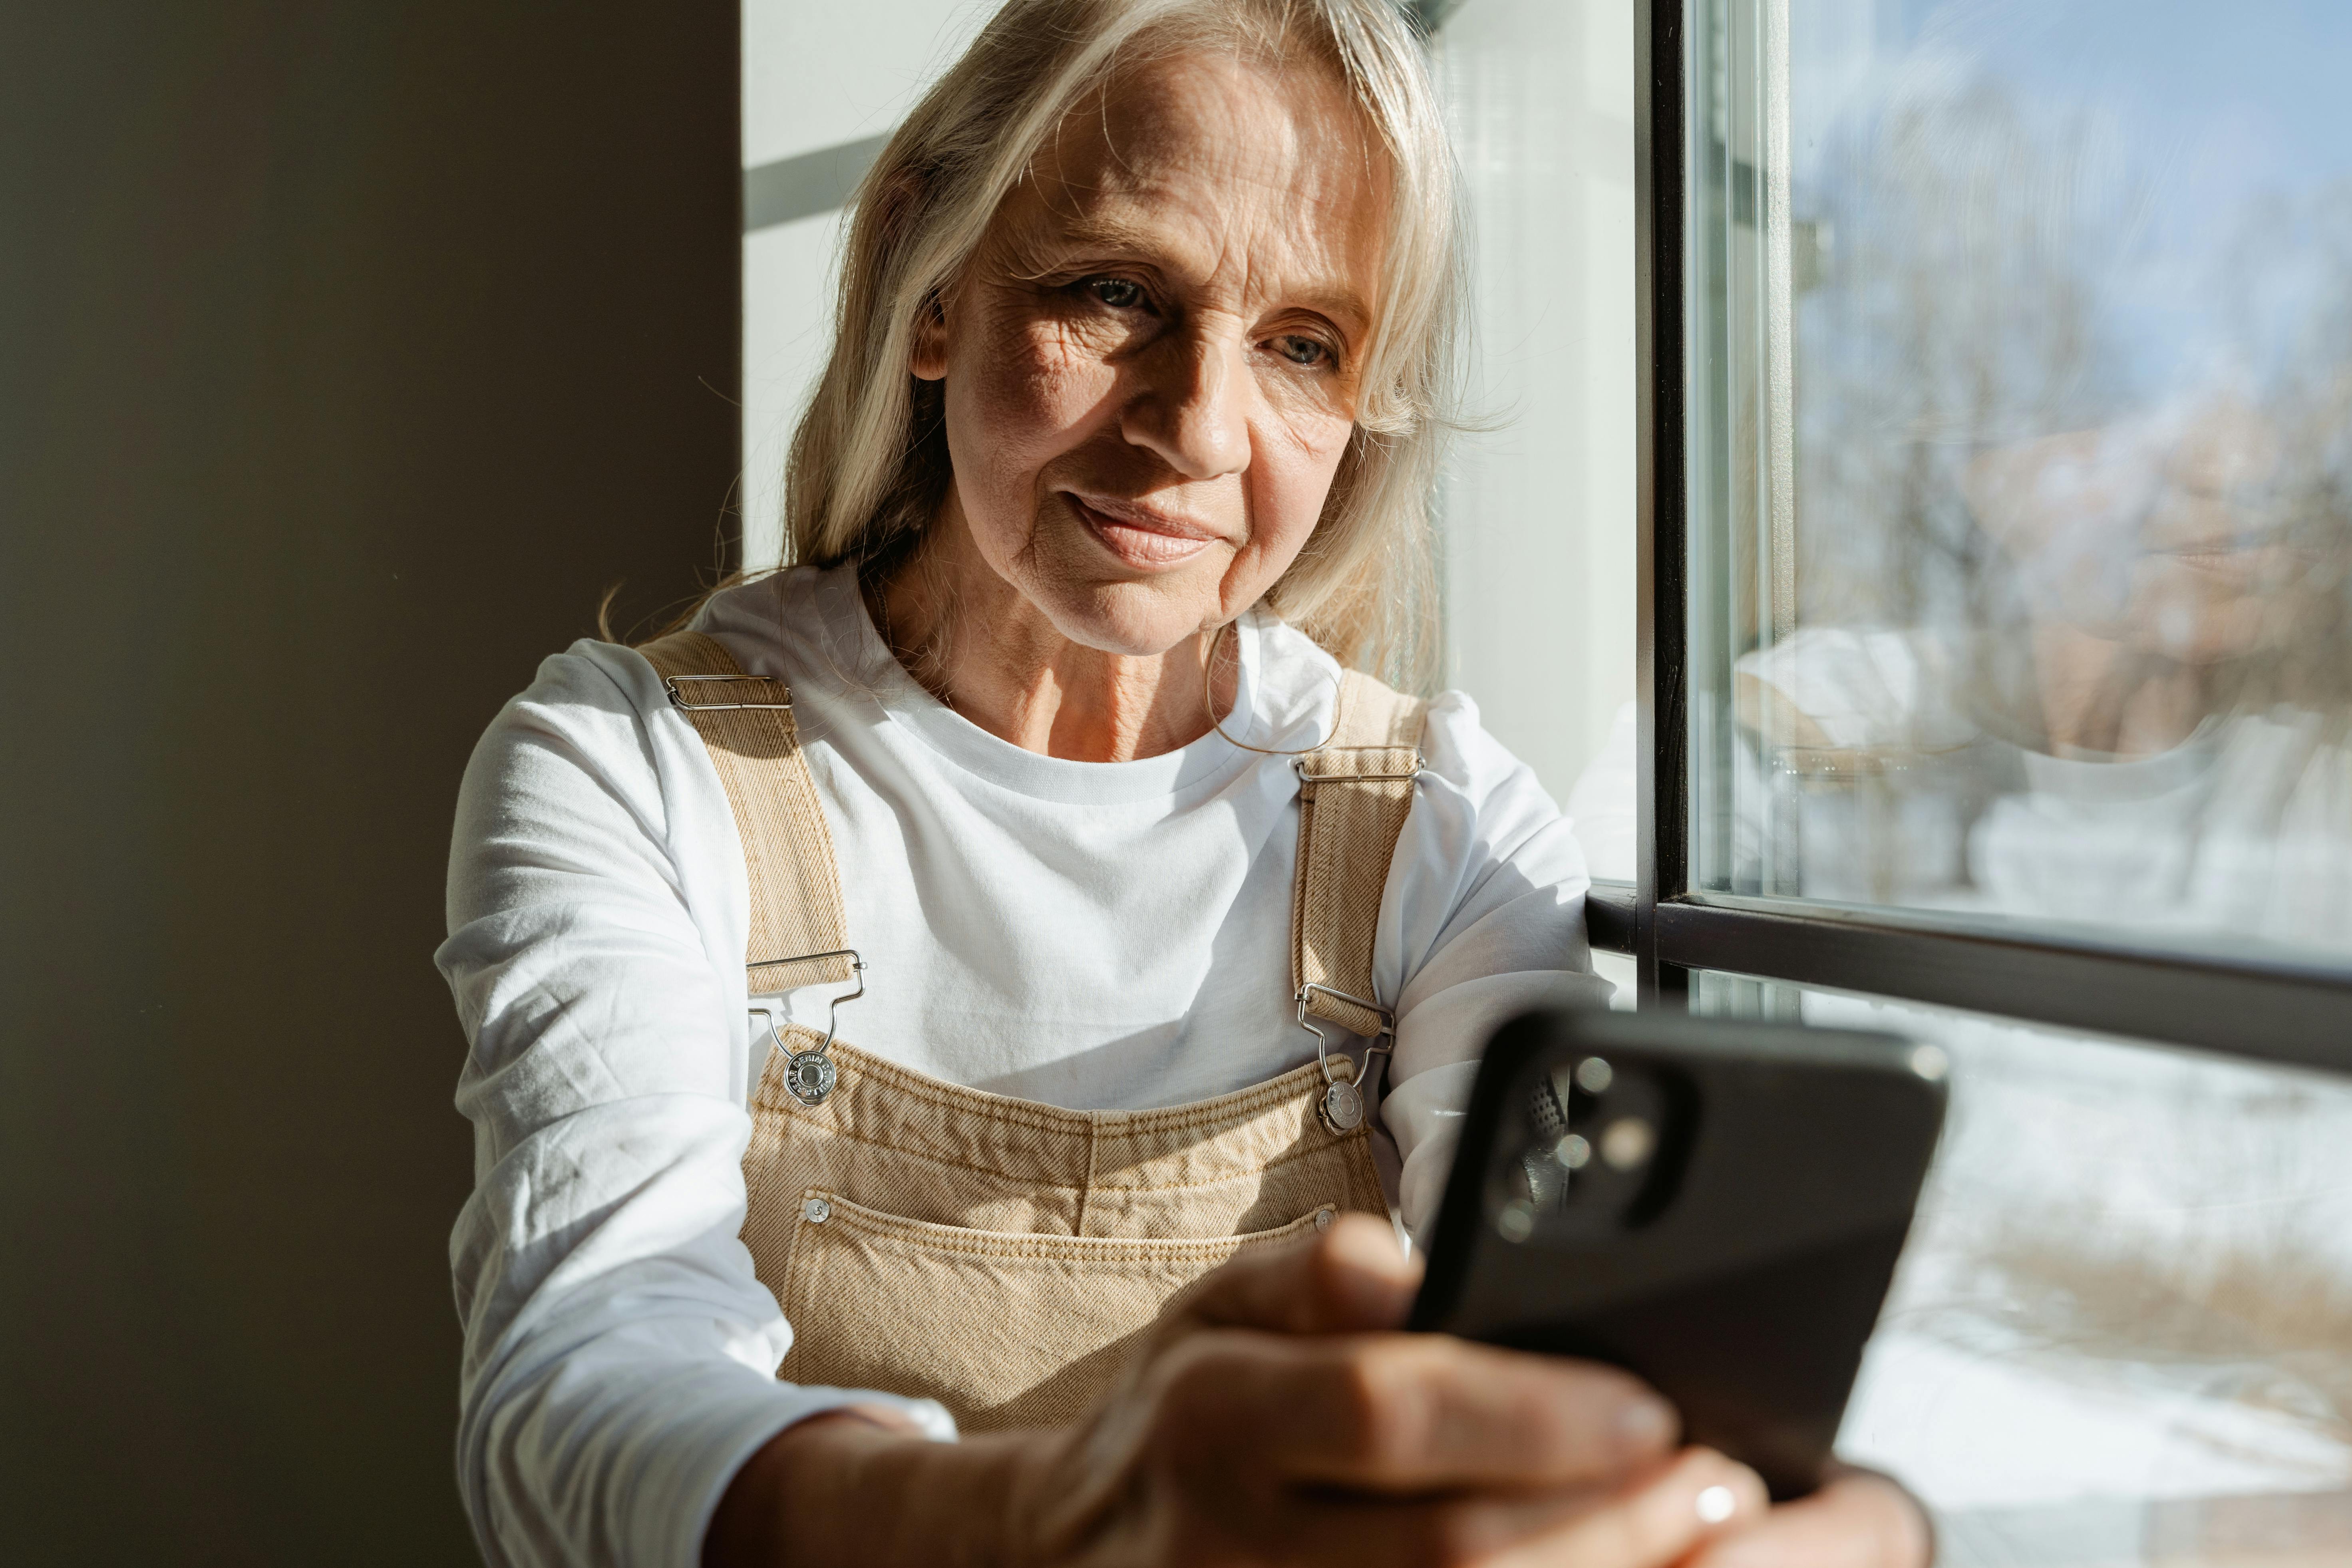
{"type": "Polygon", "coordinates": [[[851,1399],[774,1380],[790,1331],[736,1239],[743,912],[710,867],[739,851],[694,748],[644,661],[581,644],[459,799],[435,954],[475,1126],[459,1483],[499,1568],[689,1568],[743,1458],[851,1399]]]}

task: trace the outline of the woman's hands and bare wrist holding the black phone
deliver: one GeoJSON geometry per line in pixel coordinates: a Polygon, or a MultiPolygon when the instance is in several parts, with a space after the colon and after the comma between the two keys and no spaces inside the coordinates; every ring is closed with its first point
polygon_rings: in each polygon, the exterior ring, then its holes
{"type": "Polygon", "coordinates": [[[1388,1227],[1343,1218],[1214,1274],[1068,1432],[941,1446],[880,1415],[802,1422],[736,1476],[706,1563],[1926,1561],[1886,1483],[1769,1512],[1750,1469],[1675,1453],[1672,1410],[1623,1373],[1395,1333],[1414,1284],[1388,1227]]]}

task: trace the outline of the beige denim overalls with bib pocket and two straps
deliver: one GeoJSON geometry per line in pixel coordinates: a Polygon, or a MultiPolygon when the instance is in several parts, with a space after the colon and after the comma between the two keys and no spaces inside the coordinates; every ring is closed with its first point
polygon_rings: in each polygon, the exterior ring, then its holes
{"type": "MultiPolygon", "coordinates": [[[[734,806],[750,994],[863,985],[790,693],[699,632],[640,651],[734,806]]],[[[1423,703],[1348,672],[1331,741],[1296,759],[1298,1020],[1374,1048],[1390,1030],[1369,1001],[1374,926],[1421,722],[1423,703]]],[[[936,1399],[967,1432],[1063,1425],[1216,1265],[1336,1211],[1388,1213],[1355,1084],[1374,1051],[1317,1048],[1317,1063],[1197,1105],[1082,1112],[769,1023],[781,1048],[750,1098],[743,1244],[793,1324],[779,1368],[793,1382],[936,1399]]]]}

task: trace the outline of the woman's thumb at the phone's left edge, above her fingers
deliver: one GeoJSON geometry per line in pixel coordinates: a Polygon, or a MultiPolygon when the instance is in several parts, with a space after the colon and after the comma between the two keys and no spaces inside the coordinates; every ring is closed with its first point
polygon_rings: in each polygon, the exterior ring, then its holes
{"type": "Polygon", "coordinates": [[[1312,1241],[1237,1258],[1207,1279],[1188,1324],[1272,1333],[1399,1328],[1421,1288],[1421,1265],[1369,1213],[1343,1213],[1312,1241]]]}

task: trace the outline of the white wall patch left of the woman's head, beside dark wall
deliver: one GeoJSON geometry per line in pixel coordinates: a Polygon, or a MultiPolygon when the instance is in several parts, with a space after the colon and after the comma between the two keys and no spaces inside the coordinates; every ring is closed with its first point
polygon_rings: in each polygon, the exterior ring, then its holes
{"type": "MultiPolygon", "coordinates": [[[[880,136],[990,0],[743,0],[743,167],[880,136]]],[[[743,562],[783,548],[783,449],[833,339],[840,214],[743,235],[743,562]]]]}

